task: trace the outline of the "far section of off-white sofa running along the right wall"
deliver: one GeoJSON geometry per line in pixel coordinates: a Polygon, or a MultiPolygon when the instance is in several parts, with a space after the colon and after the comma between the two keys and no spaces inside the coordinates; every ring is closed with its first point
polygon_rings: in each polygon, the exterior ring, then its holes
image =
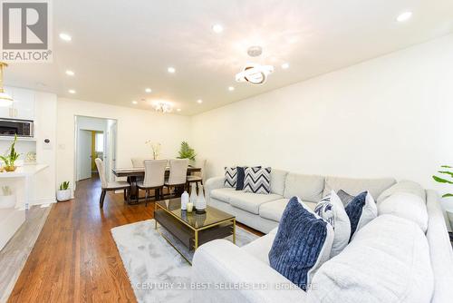
{"type": "Polygon", "coordinates": [[[265,195],[225,188],[224,181],[224,177],[206,181],[205,190],[209,205],[236,215],[239,222],[264,233],[275,229],[286,204],[294,196],[300,197],[308,206],[314,208],[316,203],[332,190],[343,190],[355,195],[367,189],[376,199],[382,191],[396,183],[391,178],[352,179],[272,170],[271,193],[265,195]]]}

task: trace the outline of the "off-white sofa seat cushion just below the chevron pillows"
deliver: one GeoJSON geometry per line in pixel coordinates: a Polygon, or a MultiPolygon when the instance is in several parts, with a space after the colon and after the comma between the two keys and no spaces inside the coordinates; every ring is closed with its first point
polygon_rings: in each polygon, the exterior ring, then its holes
{"type": "Polygon", "coordinates": [[[254,213],[255,215],[259,214],[259,207],[261,204],[283,198],[282,196],[276,195],[275,193],[270,193],[268,195],[259,195],[253,192],[244,191],[234,191],[228,193],[228,196],[229,203],[232,206],[254,213]]]}

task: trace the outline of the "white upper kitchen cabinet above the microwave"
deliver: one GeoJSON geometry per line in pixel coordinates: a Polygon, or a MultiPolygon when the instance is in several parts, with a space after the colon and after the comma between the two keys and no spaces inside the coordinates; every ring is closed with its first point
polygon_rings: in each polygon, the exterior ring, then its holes
{"type": "Polygon", "coordinates": [[[0,118],[34,120],[34,92],[23,88],[5,87],[13,97],[11,106],[0,107],[0,118]]]}

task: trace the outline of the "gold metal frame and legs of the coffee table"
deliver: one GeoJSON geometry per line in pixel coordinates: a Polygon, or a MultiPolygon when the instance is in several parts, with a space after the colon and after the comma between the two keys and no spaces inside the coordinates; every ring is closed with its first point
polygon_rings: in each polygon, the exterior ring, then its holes
{"type": "MultiPolygon", "coordinates": [[[[161,201],[160,201],[161,202],[161,201]]],[[[169,210],[168,208],[162,206],[159,204],[159,201],[156,201],[156,203],[154,203],[154,211],[156,210],[164,210],[166,213],[168,213],[170,216],[172,216],[174,219],[178,220],[178,222],[184,224],[185,226],[188,227],[189,230],[192,230],[194,232],[194,245],[193,245],[193,249],[194,251],[198,249],[198,232],[201,231],[201,230],[207,230],[207,229],[211,229],[213,227],[216,227],[218,225],[221,225],[223,223],[226,223],[226,222],[231,222],[232,225],[233,225],[233,233],[232,233],[232,236],[233,236],[233,243],[236,244],[236,217],[232,217],[232,218],[228,218],[226,220],[218,220],[214,223],[211,223],[211,224],[207,224],[207,225],[203,225],[199,228],[196,228],[196,227],[193,227],[191,226],[190,224],[188,224],[188,222],[186,222],[185,220],[182,220],[180,217],[178,217],[177,215],[175,215],[171,210],[169,210]]],[[[214,209],[212,207],[207,207],[207,212],[209,210],[213,210],[213,211],[217,211],[217,209],[214,209]]],[[[221,210],[219,210],[221,211],[221,210]]],[[[188,212],[188,215],[192,215],[192,214],[195,214],[195,210],[193,210],[192,212],[188,212]]],[[[162,224],[160,224],[162,225],[162,224]]],[[[165,226],[163,226],[165,228],[165,226]]],[[[157,230],[159,232],[159,234],[167,240],[167,242],[169,242],[169,244],[178,251],[178,253],[181,255],[182,258],[186,259],[188,261],[188,263],[192,264],[185,256],[184,254],[176,247],[175,244],[173,244],[171,242],[171,240],[166,237],[164,234],[162,234],[162,232],[159,231],[158,229],[158,220],[154,219],[154,229],[157,230]]],[[[166,228],[167,229],[167,228],[166,228]]],[[[168,229],[167,229],[168,230],[168,229]]],[[[169,232],[171,233],[171,231],[169,230],[169,232]]],[[[176,237],[175,237],[176,238],[176,237]]]]}

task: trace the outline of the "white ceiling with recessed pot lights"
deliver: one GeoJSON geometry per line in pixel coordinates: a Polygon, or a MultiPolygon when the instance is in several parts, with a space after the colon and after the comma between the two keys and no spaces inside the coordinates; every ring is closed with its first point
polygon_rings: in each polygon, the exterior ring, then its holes
{"type": "Polygon", "coordinates": [[[452,31],[451,0],[58,0],[53,64],[10,64],[5,83],[149,110],[165,100],[191,115],[452,31]],[[412,18],[398,23],[405,11],[412,18]],[[213,24],[224,31],[214,33],[213,24]],[[251,45],[263,47],[258,59],[247,56],[251,45]],[[275,72],[261,86],[236,83],[250,62],[275,72]]]}

